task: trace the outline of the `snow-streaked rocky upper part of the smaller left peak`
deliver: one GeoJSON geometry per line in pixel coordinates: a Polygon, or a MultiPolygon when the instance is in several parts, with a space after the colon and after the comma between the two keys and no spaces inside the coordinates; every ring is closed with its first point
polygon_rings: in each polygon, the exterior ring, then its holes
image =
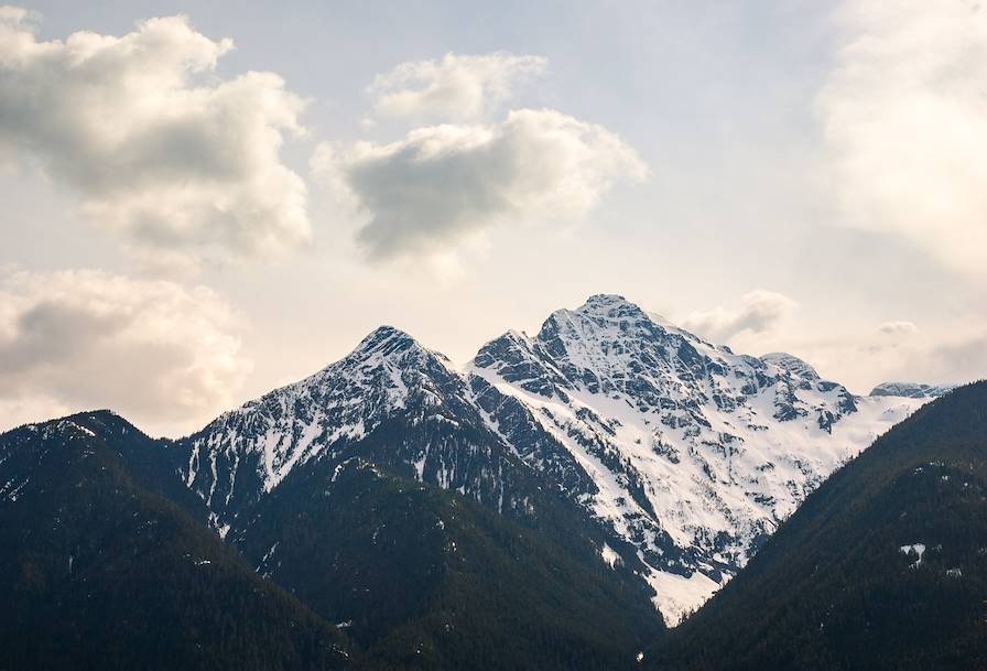
{"type": "Polygon", "coordinates": [[[389,326],[314,376],[225,413],[180,450],[187,486],[224,535],[296,467],[351,456],[527,515],[512,487],[528,469],[487,425],[466,379],[389,326]]]}

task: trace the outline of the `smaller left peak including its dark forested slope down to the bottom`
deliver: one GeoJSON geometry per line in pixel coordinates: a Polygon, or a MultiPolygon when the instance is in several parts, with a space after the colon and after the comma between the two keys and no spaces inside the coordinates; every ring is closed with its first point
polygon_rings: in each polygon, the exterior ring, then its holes
{"type": "MultiPolygon", "coordinates": [[[[604,561],[606,529],[398,329],[174,452],[227,542],[375,669],[630,668],[663,629],[633,567],[604,561]]],[[[553,441],[529,453],[572,461],[553,441]]]]}

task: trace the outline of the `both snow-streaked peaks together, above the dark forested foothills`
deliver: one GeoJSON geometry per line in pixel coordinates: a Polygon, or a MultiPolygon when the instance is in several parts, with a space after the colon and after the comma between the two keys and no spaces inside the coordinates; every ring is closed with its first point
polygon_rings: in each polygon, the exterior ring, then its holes
{"type": "Polygon", "coordinates": [[[463,369],[381,327],[177,448],[186,484],[234,537],[264,497],[308,486],[316,463],[372,464],[518,518],[554,497],[603,539],[600,561],[637,572],[674,624],[925,400],[855,397],[790,355],[736,355],[597,295],[534,337],[491,340],[463,369]]]}

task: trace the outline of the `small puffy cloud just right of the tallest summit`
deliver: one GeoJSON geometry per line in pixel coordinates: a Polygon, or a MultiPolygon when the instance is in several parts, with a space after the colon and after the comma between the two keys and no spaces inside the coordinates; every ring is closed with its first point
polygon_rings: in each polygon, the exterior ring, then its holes
{"type": "Polygon", "coordinates": [[[740,333],[761,334],[771,331],[798,304],[788,296],[763,289],[744,294],[736,307],[717,306],[694,312],[681,320],[688,332],[716,343],[726,343],[740,333]]]}

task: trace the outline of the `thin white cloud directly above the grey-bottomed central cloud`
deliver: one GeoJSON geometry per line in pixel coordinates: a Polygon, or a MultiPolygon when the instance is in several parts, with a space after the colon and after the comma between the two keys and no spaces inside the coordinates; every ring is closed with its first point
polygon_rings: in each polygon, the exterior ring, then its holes
{"type": "Polygon", "coordinates": [[[416,122],[473,121],[509,99],[514,88],[545,72],[539,56],[507,52],[402,63],[378,75],[368,93],[379,117],[416,122]]]}

